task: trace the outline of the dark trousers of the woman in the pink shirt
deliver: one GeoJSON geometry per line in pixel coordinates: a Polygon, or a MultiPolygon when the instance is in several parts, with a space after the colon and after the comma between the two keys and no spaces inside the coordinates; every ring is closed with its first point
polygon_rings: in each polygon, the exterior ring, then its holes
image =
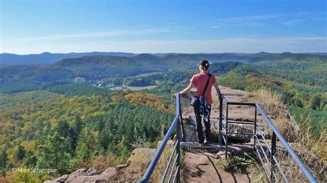
{"type": "Polygon", "coordinates": [[[209,109],[209,116],[208,121],[204,119],[204,126],[202,126],[202,118],[200,116],[200,105],[194,105],[194,112],[195,112],[195,118],[197,118],[197,122],[195,122],[195,125],[197,127],[197,140],[199,140],[199,143],[204,143],[204,140],[207,140],[210,142],[210,113],[211,113],[211,105],[209,109]]]}

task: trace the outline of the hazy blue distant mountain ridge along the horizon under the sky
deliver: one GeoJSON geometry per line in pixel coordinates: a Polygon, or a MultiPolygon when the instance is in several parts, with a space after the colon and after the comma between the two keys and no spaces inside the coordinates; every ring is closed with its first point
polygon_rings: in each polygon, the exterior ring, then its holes
{"type": "MultiPolygon", "coordinates": [[[[183,60],[190,59],[193,63],[199,62],[199,59],[206,57],[208,60],[213,62],[224,62],[224,61],[241,61],[250,63],[251,59],[255,59],[263,56],[277,56],[284,57],[286,55],[319,55],[319,56],[327,56],[327,52],[320,53],[300,53],[293,54],[290,52],[284,52],[281,54],[273,54],[268,52],[259,52],[255,54],[245,54],[245,53],[200,53],[200,54],[181,54],[181,53],[147,53],[145,55],[157,56],[159,58],[164,58],[164,60],[171,60],[170,58],[181,58],[183,60]]],[[[27,54],[27,55],[19,55],[19,54],[8,54],[3,53],[0,54],[0,66],[10,66],[10,65],[50,65],[56,63],[57,61],[61,61],[65,58],[79,58],[82,56],[125,56],[125,57],[133,57],[139,54],[128,53],[128,52],[81,52],[81,53],[50,53],[44,52],[42,54],[27,54]]]]}

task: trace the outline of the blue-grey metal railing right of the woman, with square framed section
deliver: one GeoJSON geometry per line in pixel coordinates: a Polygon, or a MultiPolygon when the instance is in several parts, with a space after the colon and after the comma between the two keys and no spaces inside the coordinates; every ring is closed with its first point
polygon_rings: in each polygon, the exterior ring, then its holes
{"type": "MultiPolygon", "coordinates": [[[[282,177],[284,182],[288,182],[288,177],[286,177],[286,174],[281,169],[281,164],[277,160],[276,153],[276,141],[277,138],[279,139],[279,142],[283,144],[284,149],[288,152],[288,155],[290,155],[299,169],[301,169],[301,172],[306,176],[309,182],[317,182],[315,180],[315,177],[313,177],[312,173],[308,170],[306,165],[299,159],[295,151],[290,147],[288,142],[284,139],[283,136],[281,136],[281,133],[276,129],[275,125],[273,125],[273,122],[270,121],[266,113],[263,109],[261,109],[260,105],[257,103],[233,103],[229,102],[228,99],[224,96],[224,94],[221,94],[219,100],[219,144],[223,144],[223,140],[226,146],[226,158],[227,158],[227,148],[228,148],[228,134],[234,133],[234,132],[228,132],[228,106],[229,105],[248,105],[248,106],[254,106],[255,107],[255,122],[253,125],[255,125],[253,133],[237,133],[237,134],[244,134],[248,136],[254,137],[254,144],[253,147],[255,151],[257,151],[258,158],[261,162],[261,166],[264,168],[264,172],[266,175],[266,178],[268,182],[280,182],[278,177],[282,177]],[[226,103],[226,116],[223,112],[223,105],[226,103]],[[273,134],[271,138],[271,145],[267,142],[265,138],[264,132],[261,130],[260,127],[257,126],[257,110],[259,110],[260,114],[264,117],[264,120],[266,120],[268,127],[272,129],[273,134]],[[226,125],[224,125],[224,122],[226,125]],[[223,129],[225,129],[225,136],[223,136],[223,129]],[[259,132],[259,135],[257,134],[257,131],[259,132]],[[261,141],[264,141],[264,144],[261,143],[261,141]],[[257,143],[256,143],[257,142],[257,143]],[[266,162],[266,163],[265,163],[266,162]],[[266,166],[268,164],[268,167],[266,166]],[[277,175],[277,173],[279,174],[277,175]]],[[[233,122],[235,124],[241,123],[244,124],[244,122],[233,122]]],[[[248,125],[249,123],[246,122],[248,125]]]]}

